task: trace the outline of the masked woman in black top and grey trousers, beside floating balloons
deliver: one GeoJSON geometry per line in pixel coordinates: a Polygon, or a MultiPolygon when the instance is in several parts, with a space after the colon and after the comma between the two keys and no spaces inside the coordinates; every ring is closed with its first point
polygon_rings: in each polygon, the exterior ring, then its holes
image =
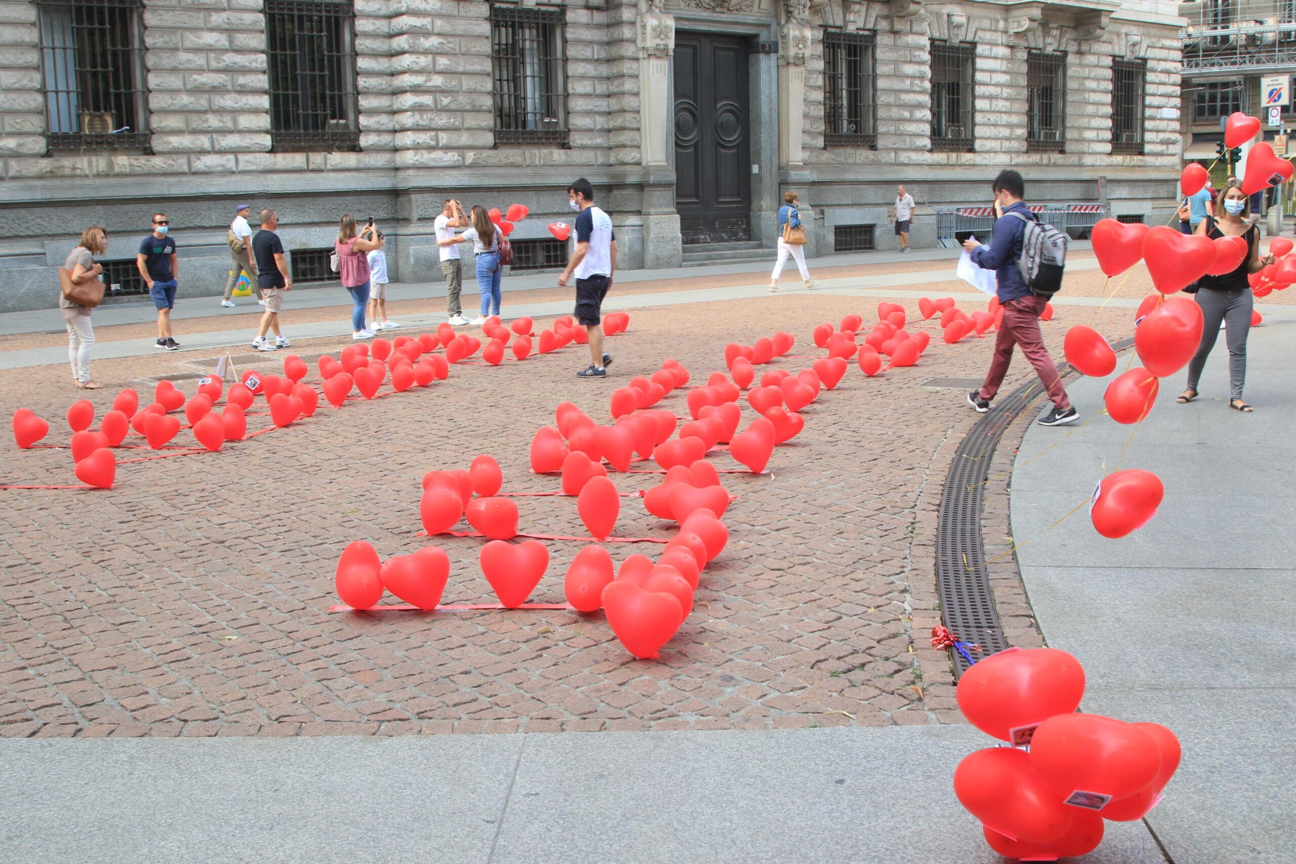
{"type": "Polygon", "coordinates": [[[1248,199],[1242,193],[1242,184],[1229,180],[1221,202],[1223,212],[1220,218],[1207,216],[1198,223],[1195,233],[1212,240],[1242,237],[1247,241],[1247,255],[1231,272],[1223,276],[1203,276],[1196,284],[1198,306],[1201,307],[1201,343],[1188,361],[1188,389],[1175,402],[1182,405],[1198,398],[1201,369],[1216,339],[1220,338],[1220,323],[1223,321],[1225,339],[1229,345],[1229,407],[1251,413],[1251,405],[1242,398],[1242,387],[1247,380],[1247,334],[1251,330],[1251,310],[1255,306],[1247,276],[1273,264],[1274,256],[1260,254],[1260,228],[1248,218],[1248,199]]]}

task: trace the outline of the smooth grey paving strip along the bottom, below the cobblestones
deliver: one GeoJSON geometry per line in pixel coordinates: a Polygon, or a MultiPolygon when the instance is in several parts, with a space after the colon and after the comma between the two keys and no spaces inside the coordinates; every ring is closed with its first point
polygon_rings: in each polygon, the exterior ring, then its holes
{"type": "MultiPolygon", "coordinates": [[[[950,781],[988,742],[962,725],[0,741],[0,859],[993,864],[950,781]]],[[[1085,861],[1165,859],[1128,823],[1085,861]]]]}

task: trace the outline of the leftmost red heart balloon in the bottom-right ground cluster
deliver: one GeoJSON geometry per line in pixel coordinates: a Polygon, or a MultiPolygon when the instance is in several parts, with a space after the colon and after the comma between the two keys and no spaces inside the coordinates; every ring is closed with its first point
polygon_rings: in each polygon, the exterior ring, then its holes
{"type": "Polygon", "coordinates": [[[1070,828],[1072,808],[1041,779],[1030,754],[1023,750],[969,753],[954,769],[954,794],[989,828],[1020,841],[1048,843],[1070,828]]]}

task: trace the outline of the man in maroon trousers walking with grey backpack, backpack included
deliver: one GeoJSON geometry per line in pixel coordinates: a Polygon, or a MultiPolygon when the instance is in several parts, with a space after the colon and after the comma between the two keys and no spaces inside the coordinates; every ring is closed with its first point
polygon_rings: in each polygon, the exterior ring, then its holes
{"type": "Polygon", "coordinates": [[[994,341],[994,358],[985,383],[968,394],[968,404],[977,413],[990,411],[990,402],[999,392],[1003,376],[1012,363],[1012,346],[1021,352],[1043,381],[1054,407],[1039,418],[1045,426],[1073,424],[1080,415],[1070,407],[1061,386],[1058,367],[1045,348],[1039,333],[1039,315],[1048,298],[1061,286],[1061,268],[1067,254],[1065,236],[1042,225],[1023,202],[1025,181],[1016,171],[1001,171],[994,179],[994,209],[999,219],[994,236],[985,246],[975,240],[963,244],[972,260],[982,269],[995,271],[997,294],[1003,307],[1003,320],[994,341]]]}

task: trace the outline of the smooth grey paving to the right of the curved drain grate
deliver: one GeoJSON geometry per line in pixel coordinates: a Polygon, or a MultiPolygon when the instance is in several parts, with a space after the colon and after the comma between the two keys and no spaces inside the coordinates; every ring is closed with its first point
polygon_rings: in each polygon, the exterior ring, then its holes
{"type": "MultiPolygon", "coordinates": [[[[1266,308],[1248,343],[1253,415],[1227,408],[1221,333],[1196,402],[1175,404],[1181,372],[1161,382],[1131,443],[1105,417],[1058,447],[1058,430],[1032,426],[1013,472],[1023,580],[1048,644],[1085,665],[1082,707],[1163,723],[1183,745],[1148,817],[1175,864],[1296,861],[1293,364],[1296,311],[1266,308]],[[1165,483],[1151,523],[1107,540],[1081,510],[1039,536],[1118,466],[1165,483]]],[[[1105,386],[1067,390],[1087,416],[1105,386]]]]}

